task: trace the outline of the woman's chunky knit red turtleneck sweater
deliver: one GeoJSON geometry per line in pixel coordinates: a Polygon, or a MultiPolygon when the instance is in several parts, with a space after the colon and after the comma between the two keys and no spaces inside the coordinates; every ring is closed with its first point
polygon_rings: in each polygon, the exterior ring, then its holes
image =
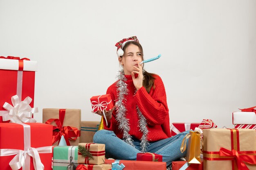
{"type": "MultiPolygon", "coordinates": [[[[127,109],[126,118],[129,119],[128,122],[130,124],[129,134],[137,139],[141,139],[142,136],[138,126],[139,117],[136,110],[136,106],[138,105],[139,110],[147,120],[147,128],[149,131],[148,142],[155,142],[171,137],[169,110],[162,79],[158,75],[155,75],[155,89],[152,87],[148,94],[145,87],[141,87],[135,94],[135,86],[133,85],[132,76],[125,75],[125,77],[127,78],[126,84],[128,85],[128,95],[125,96],[127,99],[125,106],[127,109]]],[[[115,100],[118,100],[116,83],[117,82],[110,85],[107,90],[107,94],[110,94],[114,105],[115,100]]],[[[104,129],[114,131],[117,137],[122,139],[123,133],[118,129],[118,122],[115,118],[116,111],[114,110],[108,126],[106,126],[104,120],[104,129]]]]}

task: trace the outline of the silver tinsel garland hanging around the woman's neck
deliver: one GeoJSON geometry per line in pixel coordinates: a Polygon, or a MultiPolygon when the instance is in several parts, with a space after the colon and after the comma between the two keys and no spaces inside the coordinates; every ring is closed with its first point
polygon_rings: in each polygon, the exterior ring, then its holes
{"type": "MultiPolygon", "coordinates": [[[[116,114],[116,120],[118,122],[118,129],[123,131],[123,139],[126,143],[130,144],[131,146],[135,147],[133,145],[132,137],[129,134],[130,126],[129,126],[129,119],[126,118],[126,107],[124,105],[124,102],[126,102],[125,95],[128,95],[128,89],[126,84],[126,77],[124,76],[124,70],[119,70],[117,73],[117,114],[116,114]]],[[[137,114],[139,116],[139,130],[143,134],[140,139],[140,150],[141,152],[146,152],[147,146],[148,146],[148,129],[147,129],[147,122],[146,118],[142,115],[141,111],[139,110],[139,107],[137,106],[137,114]]]]}

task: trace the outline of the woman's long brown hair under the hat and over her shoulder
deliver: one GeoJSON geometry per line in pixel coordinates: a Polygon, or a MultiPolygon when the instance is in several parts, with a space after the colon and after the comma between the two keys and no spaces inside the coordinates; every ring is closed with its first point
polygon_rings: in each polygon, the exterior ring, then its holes
{"type": "MultiPolygon", "coordinates": [[[[139,50],[141,51],[142,61],[143,61],[144,60],[144,58],[143,58],[143,56],[144,56],[143,55],[143,49],[142,49],[142,46],[139,44],[139,42],[137,42],[137,41],[128,41],[124,45],[123,50],[125,51],[126,48],[130,44],[134,44],[135,46],[139,47],[139,50]]],[[[123,56],[120,56],[120,57],[122,58],[123,56]]],[[[153,86],[153,89],[155,89],[155,84],[154,84],[155,77],[154,77],[153,73],[146,72],[146,70],[144,70],[143,75],[144,75],[144,78],[143,78],[143,84],[142,85],[145,87],[146,91],[149,93],[152,86],[153,86]]]]}

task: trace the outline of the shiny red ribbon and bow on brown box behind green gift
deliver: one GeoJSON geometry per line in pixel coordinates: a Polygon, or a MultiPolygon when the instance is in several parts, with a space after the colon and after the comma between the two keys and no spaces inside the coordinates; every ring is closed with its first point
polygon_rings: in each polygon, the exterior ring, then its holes
{"type": "Polygon", "coordinates": [[[45,122],[46,124],[56,123],[56,126],[53,126],[52,144],[60,142],[61,136],[64,136],[67,146],[70,146],[69,140],[76,140],[80,136],[80,131],[76,127],[63,126],[65,113],[66,109],[59,109],[59,119],[49,119],[45,122]]]}

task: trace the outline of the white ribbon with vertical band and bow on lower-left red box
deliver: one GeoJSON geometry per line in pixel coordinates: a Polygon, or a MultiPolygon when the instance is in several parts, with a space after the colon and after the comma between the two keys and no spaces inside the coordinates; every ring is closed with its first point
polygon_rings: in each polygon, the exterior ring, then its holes
{"type": "Polygon", "coordinates": [[[52,146],[44,146],[40,148],[31,147],[30,139],[30,126],[27,124],[19,123],[23,126],[24,131],[24,150],[19,149],[0,149],[0,156],[15,155],[9,162],[11,169],[23,170],[30,169],[30,157],[33,158],[35,170],[44,170],[44,165],[41,162],[39,153],[52,153],[52,146]]]}

